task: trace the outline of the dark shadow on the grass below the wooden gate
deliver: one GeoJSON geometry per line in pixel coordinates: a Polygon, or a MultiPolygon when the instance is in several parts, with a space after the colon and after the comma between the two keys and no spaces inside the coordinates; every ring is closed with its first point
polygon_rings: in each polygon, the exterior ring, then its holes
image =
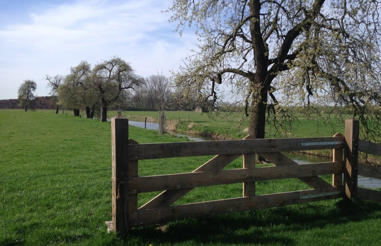
{"type": "MultiPolygon", "coordinates": [[[[136,245],[295,245],[295,235],[328,230],[327,225],[381,218],[381,204],[330,201],[243,213],[183,219],[132,229],[125,238],[136,245]]],[[[337,226],[340,227],[340,226],[337,226]]]]}

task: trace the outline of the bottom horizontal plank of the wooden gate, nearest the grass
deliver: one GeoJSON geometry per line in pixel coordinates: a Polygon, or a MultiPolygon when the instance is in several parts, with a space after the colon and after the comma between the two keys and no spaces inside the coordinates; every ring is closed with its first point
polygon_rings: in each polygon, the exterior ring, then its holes
{"type": "Polygon", "coordinates": [[[260,195],[254,196],[254,199],[250,199],[249,197],[240,197],[161,208],[138,209],[135,211],[130,211],[129,225],[150,225],[185,217],[213,215],[215,213],[240,212],[249,209],[270,208],[340,197],[342,197],[341,189],[338,187],[332,187],[324,191],[318,189],[260,195]]]}

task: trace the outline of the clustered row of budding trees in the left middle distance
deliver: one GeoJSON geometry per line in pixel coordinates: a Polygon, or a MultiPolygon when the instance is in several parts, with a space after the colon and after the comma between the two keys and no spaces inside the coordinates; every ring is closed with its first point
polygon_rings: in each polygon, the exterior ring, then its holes
{"type": "Polygon", "coordinates": [[[99,108],[101,121],[107,120],[110,107],[123,102],[128,89],[144,85],[144,79],[119,57],[103,61],[93,68],[87,61],[82,61],[71,67],[66,76],[46,75],[45,79],[51,95],[57,98],[57,110],[58,106],[71,109],[74,116],[85,110],[86,116],[93,118],[99,108]]]}

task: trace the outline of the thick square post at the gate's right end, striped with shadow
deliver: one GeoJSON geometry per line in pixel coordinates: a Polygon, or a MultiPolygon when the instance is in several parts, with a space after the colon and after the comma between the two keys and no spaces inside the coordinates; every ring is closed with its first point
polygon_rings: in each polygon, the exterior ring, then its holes
{"type": "Polygon", "coordinates": [[[358,173],[358,129],[359,122],[356,119],[345,121],[344,141],[344,183],[345,194],[351,199],[357,196],[357,173],[358,173]]]}

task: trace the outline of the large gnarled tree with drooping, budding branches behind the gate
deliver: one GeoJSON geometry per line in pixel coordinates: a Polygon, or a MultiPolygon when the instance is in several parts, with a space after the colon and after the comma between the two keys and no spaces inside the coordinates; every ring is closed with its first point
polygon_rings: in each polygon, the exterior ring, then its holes
{"type": "Polygon", "coordinates": [[[266,112],[276,121],[284,106],[313,108],[328,98],[376,136],[381,126],[367,126],[380,117],[369,113],[380,106],[380,9],[370,0],[176,0],[171,21],[180,34],[193,26],[200,40],[176,85],[204,102],[218,101],[218,84],[231,85],[252,137],[265,137],[266,112]]]}

